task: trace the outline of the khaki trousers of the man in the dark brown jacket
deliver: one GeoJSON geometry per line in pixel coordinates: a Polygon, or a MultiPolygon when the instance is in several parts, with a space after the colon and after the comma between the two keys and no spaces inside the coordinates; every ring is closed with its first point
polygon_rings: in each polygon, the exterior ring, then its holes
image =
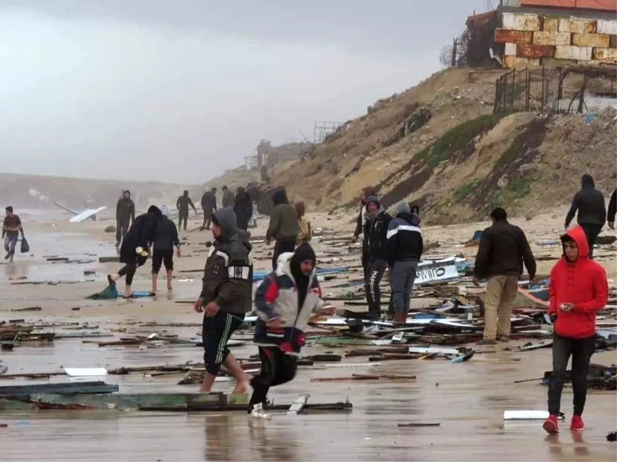
{"type": "Polygon", "coordinates": [[[518,293],[518,277],[494,276],[486,285],[484,301],[484,339],[510,335],[510,316],[518,293]]]}

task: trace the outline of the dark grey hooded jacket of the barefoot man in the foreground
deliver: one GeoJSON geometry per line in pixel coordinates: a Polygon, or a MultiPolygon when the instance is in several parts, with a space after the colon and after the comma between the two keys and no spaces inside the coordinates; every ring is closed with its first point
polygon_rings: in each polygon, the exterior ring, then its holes
{"type": "Polygon", "coordinates": [[[224,312],[243,315],[253,305],[251,235],[238,230],[230,207],[215,211],[212,221],[221,227],[222,235],[210,247],[200,298],[204,306],[214,301],[224,312]]]}

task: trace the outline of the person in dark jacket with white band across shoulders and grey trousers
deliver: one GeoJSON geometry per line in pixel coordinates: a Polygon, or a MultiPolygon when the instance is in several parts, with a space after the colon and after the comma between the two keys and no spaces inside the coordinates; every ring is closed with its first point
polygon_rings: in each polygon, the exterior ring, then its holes
{"type": "Polygon", "coordinates": [[[395,217],[387,230],[387,264],[392,291],[394,322],[407,322],[409,298],[416,269],[422,257],[424,243],[420,218],[411,213],[409,204],[400,202],[394,209],[395,217]]]}

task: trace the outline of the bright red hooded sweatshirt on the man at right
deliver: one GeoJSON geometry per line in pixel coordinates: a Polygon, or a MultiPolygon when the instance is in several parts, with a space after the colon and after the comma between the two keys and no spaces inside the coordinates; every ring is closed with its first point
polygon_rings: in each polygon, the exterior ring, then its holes
{"type": "Polygon", "coordinates": [[[589,245],[580,226],[566,233],[578,246],[575,262],[561,257],[550,272],[549,314],[557,314],[555,333],[568,338],[587,338],[595,334],[595,314],[608,302],[607,274],[589,259],[589,245]],[[574,304],[571,311],[561,311],[562,303],[574,304]]]}

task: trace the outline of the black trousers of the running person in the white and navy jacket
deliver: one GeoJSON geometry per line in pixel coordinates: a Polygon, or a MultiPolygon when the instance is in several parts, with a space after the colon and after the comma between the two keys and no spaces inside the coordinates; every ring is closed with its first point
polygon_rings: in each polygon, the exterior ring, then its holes
{"type": "Polygon", "coordinates": [[[270,387],[292,381],[296,376],[297,357],[285,354],[279,347],[259,347],[262,368],[251,379],[253,395],[249,402],[249,414],[257,403],[265,404],[270,387]]]}

